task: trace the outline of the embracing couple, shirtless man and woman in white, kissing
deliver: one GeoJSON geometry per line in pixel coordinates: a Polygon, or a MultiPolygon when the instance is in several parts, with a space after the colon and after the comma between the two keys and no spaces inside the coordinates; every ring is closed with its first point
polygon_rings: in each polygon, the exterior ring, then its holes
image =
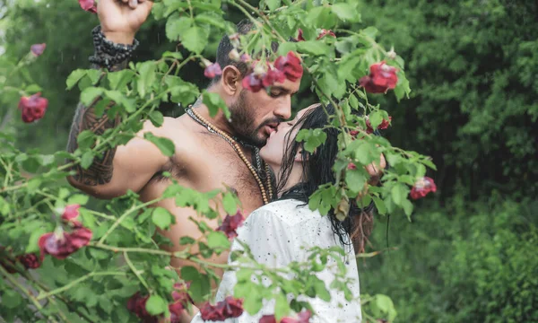
{"type": "MultiPolygon", "coordinates": [[[[98,46],[91,57],[96,68],[110,71],[126,68],[134,49],[132,44],[136,43],[134,34],[151,7],[152,2],[148,0],[100,0],[97,8],[100,29],[94,30],[94,43],[98,46]]],[[[243,23],[239,24],[238,31],[246,33],[250,28],[249,23],[243,23]]],[[[334,210],[328,216],[321,216],[308,208],[308,196],[320,185],[335,182],[332,168],[338,152],[339,130],[325,127],[329,124],[327,112],[334,114],[334,108],[315,104],[300,110],[290,120],[291,96],[299,91],[300,77],[274,83],[268,92],[248,91],[243,85],[247,65],[230,59],[232,49],[229,37],[223,37],[216,58],[221,75],[215,76],[207,88],[226,102],[230,120],[221,112],[211,117],[207,107],[198,100],[181,117],[165,118],[161,127],[146,122],[141,133],[127,144],[103,153],[87,170],[75,169],[69,182],[100,198],[121,196],[130,189],[143,201],[161,196],[172,179],[201,192],[231,188],[239,196],[242,214],[247,217],[232,249],[242,248],[240,240],[247,244],[257,262],[281,267],[292,261],[306,260],[305,248],[343,247],[347,253],[343,258],[353,301],[346,301],[343,292],[332,292],[330,302],[310,300],[316,311],[310,321],[360,322],[359,275],[354,256],[366,239],[362,224],[371,222],[372,210],[362,210],[352,201],[347,220],[340,222],[334,210]],[[327,135],[325,144],[314,153],[308,153],[303,144],[295,141],[300,129],[323,127],[327,135]],[[171,140],[175,144],[174,155],[165,156],[154,144],[144,140],[146,132],[171,140]],[[165,176],[165,172],[171,174],[171,178],[165,176]]],[[[118,119],[108,119],[106,113],[101,117],[94,113],[96,103],[89,107],[81,104],[77,108],[68,144],[71,152],[77,148],[76,137],[80,132],[91,130],[102,134],[117,126],[118,119]]],[[[373,184],[384,163],[381,158],[381,165],[367,168],[373,184]]],[[[176,224],[161,232],[174,243],[167,248],[178,251],[185,248],[179,244],[181,237],[195,240],[201,237],[195,223],[188,220],[197,216],[195,210],[178,207],[173,199],[155,206],[168,209],[176,217],[176,224]]],[[[217,220],[208,220],[208,224],[213,230],[219,225],[217,220]]],[[[225,264],[228,254],[215,256],[211,261],[225,264]]],[[[170,265],[176,269],[194,266],[177,258],[172,258],[170,265]]],[[[329,283],[334,276],[331,270],[334,268],[327,266],[317,276],[329,283]]],[[[231,294],[235,279],[233,272],[223,275],[216,301],[231,294]]],[[[274,308],[268,303],[257,316],[244,313],[234,321],[257,322],[273,312],[274,308]]],[[[188,320],[190,317],[185,313],[181,321],[188,320]]],[[[203,319],[197,314],[193,321],[203,319]]]]}

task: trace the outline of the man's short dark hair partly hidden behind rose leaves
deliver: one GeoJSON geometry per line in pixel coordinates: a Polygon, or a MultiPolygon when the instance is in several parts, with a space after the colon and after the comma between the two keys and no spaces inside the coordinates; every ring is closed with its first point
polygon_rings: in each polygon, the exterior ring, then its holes
{"type": "MultiPolygon", "coordinates": [[[[248,19],[243,19],[236,25],[239,35],[247,35],[248,31],[252,31],[253,27],[254,27],[254,23],[248,19]]],[[[230,37],[228,35],[224,35],[224,37],[222,37],[221,39],[221,42],[219,43],[219,47],[217,48],[216,63],[219,63],[222,69],[224,69],[224,67],[228,65],[235,66],[239,69],[239,73],[241,74],[241,77],[245,77],[245,75],[248,72],[248,65],[247,63],[244,63],[240,60],[234,61],[233,59],[231,59],[230,51],[232,49],[233,49],[233,45],[231,44],[230,37]]],[[[276,52],[278,50],[277,42],[273,41],[271,43],[271,50],[273,52],[276,52]]],[[[252,53],[249,53],[249,54],[252,56],[252,53]]],[[[209,86],[212,86],[213,84],[216,84],[219,81],[221,81],[221,77],[222,77],[221,75],[215,76],[209,86]]]]}

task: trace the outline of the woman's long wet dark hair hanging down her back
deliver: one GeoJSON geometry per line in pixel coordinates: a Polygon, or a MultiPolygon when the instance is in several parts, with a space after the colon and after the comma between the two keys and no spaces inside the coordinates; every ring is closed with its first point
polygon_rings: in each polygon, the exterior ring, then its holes
{"type": "MultiPolygon", "coordinates": [[[[303,173],[299,184],[292,188],[285,189],[288,179],[290,178],[291,169],[293,168],[294,160],[299,149],[302,148],[302,143],[295,141],[295,138],[290,138],[289,135],[294,133],[296,128],[315,129],[323,128],[329,125],[329,116],[334,116],[334,107],[328,105],[325,109],[318,105],[315,108],[308,110],[293,126],[288,133],[288,137],[284,142],[290,143],[285,150],[282,158],[281,175],[276,188],[282,196],[280,199],[298,199],[308,204],[308,197],[314,194],[319,186],[332,183],[336,184],[334,177],[333,165],[338,153],[338,135],[341,133],[339,128],[326,127],[323,129],[327,135],[325,144],[317,147],[314,153],[308,153],[302,149],[302,168],[303,173]]],[[[336,219],[334,209],[331,208],[327,214],[330,217],[333,231],[338,236],[343,245],[349,245],[349,239],[355,246],[355,252],[364,252],[364,245],[368,241],[369,233],[373,224],[372,211],[364,212],[354,199],[350,201],[350,211],[346,219],[341,222],[336,219]]]]}

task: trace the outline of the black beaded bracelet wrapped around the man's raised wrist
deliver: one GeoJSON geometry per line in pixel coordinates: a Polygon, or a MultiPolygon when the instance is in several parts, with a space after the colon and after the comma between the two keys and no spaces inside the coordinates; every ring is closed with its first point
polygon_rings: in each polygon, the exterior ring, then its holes
{"type": "Polygon", "coordinates": [[[91,34],[93,35],[93,46],[95,53],[89,58],[90,62],[96,65],[106,67],[110,70],[114,65],[125,61],[133,55],[134,49],[139,45],[138,40],[134,39],[132,45],[117,44],[105,38],[101,32],[100,26],[95,27],[91,34]]]}

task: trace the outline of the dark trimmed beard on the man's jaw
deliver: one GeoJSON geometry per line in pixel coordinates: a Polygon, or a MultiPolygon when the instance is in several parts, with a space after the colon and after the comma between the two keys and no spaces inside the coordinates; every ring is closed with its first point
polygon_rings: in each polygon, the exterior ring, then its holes
{"type": "Polygon", "coordinates": [[[262,127],[271,123],[279,123],[278,118],[265,120],[261,125],[256,127],[254,108],[247,104],[247,90],[241,90],[238,100],[230,106],[231,122],[230,127],[234,131],[234,135],[240,140],[246,141],[248,144],[254,144],[257,147],[263,147],[267,142],[267,138],[260,137],[258,134],[262,127]]]}

